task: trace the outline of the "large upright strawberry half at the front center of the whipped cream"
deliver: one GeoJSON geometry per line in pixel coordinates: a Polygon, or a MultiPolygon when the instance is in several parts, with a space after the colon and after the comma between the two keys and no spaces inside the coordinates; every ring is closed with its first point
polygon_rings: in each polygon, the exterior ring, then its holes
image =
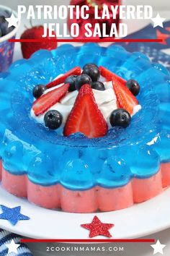
{"type": "Polygon", "coordinates": [[[107,122],[97,106],[90,85],[83,85],[68,116],[63,134],[69,136],[74,132],[82,132],[89,138],[102,137],[106,135],[107,129],[107,122]]]}

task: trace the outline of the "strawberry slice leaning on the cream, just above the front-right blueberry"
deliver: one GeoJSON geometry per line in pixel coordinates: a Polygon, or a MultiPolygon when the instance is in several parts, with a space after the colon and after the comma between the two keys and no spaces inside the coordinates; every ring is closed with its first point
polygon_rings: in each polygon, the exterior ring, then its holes
{"type": "Polygon", "coordinates": [[[124,108],[130,115],[132,115],[134,106],[138,105],[137,99],[120,81],[115,82],[114,80],[112,84],[117,98],[117,107],[124,108]]]}

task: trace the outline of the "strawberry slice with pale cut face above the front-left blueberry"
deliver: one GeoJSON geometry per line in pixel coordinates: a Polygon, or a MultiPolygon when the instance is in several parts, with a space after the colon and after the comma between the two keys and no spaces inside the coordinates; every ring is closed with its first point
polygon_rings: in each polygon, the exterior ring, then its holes
{"type": "Polygon", "coordinates": [[[68,84],[62,85],[61,87],[51,90],[50,92],[45,93],[40,98],[38,98],[32,106],[35,116],[43,114],[48,110],[48,108],[53,106],[55,103],[58,103],[58,101],[60,101],[61,98],[66,95],[68,88],[68,84]]]}

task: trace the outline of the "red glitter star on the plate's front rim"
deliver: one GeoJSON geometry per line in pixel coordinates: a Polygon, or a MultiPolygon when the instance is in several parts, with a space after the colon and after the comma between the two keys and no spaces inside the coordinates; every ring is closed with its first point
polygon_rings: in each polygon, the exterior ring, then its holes
{"type": "Polygon", "coordinates": [[[89,237],[94,236],[107,236],[112,237],[109,233],[108,229],[111,229],[114,224],[102,223],[97,216],[94,216],[93,221],[87,224],[81,224],[81,226],[85,229],[89,229],[90,234],[89,237]]]}

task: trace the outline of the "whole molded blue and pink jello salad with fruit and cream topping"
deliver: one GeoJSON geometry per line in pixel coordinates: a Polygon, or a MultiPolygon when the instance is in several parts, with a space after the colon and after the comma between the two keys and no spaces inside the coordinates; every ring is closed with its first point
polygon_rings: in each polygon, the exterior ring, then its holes
{"type": "Polygon", "coordinates": [[[44,208],[128,208],[170,184],[170,76],[94,43],[37,51],[0,77],[1,185],[44,208]]]}

